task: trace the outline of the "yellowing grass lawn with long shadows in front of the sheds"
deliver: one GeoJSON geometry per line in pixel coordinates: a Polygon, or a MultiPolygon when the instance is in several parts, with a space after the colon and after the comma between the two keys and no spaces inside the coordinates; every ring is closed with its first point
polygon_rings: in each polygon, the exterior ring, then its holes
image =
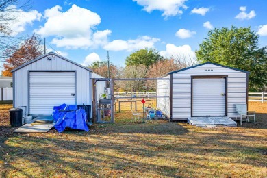
{"type": "Polygon", "coordinates": [[[267,103],[249,103],[257,125],[236,128],[123,123],[121,112],[88,133],[27,134],[12,133],[10,107],[0,105],[0,177],[267,176],[267,103]]]}

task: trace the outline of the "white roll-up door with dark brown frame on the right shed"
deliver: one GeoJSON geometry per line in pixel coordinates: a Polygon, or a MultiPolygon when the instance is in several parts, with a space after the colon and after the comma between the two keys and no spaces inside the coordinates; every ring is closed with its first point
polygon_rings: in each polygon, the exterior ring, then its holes
{"type": "Polygon", "coordinates": [[[225,78],[194,78],[192,116],[225,116],[225,78]]]}

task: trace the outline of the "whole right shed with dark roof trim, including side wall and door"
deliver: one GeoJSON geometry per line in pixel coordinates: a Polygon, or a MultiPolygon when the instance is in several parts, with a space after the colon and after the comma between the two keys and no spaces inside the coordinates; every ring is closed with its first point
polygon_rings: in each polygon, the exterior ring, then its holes
{"type": "Polygon", "coordinates": [[[248,103],[249,72],[206,62],[168,73],[157,81],[157,107],[171,120],[236,116],[235,104],[248,103]]]}

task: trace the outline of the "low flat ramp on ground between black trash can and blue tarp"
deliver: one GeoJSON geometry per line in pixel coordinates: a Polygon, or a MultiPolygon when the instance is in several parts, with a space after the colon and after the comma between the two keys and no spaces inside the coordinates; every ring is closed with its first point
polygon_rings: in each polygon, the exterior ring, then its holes
{"type": "Polygon", "coordinates": [[[55,124],[47,123],[47,124],[25,124],[20,128],[14,130],[15,133],[36,133],[36,132],[47,132],[54,127],[55,124]]]}

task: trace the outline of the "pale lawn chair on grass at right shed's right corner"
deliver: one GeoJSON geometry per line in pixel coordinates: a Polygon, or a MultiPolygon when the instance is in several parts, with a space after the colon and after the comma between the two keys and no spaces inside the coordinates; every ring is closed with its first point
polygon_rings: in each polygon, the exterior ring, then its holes
{"type": "Polygon", "coordinates": [[[246,123],[249,122],[249,116],[253,116],[254,124],[256,124],[256,112],[248,111],[246,104],[236,104],[236,112],[238,112],[238,116],[236,116],[236,119],[240,117],[240,125],[242,125],[243,116],[246,118],[246,123]]]}

